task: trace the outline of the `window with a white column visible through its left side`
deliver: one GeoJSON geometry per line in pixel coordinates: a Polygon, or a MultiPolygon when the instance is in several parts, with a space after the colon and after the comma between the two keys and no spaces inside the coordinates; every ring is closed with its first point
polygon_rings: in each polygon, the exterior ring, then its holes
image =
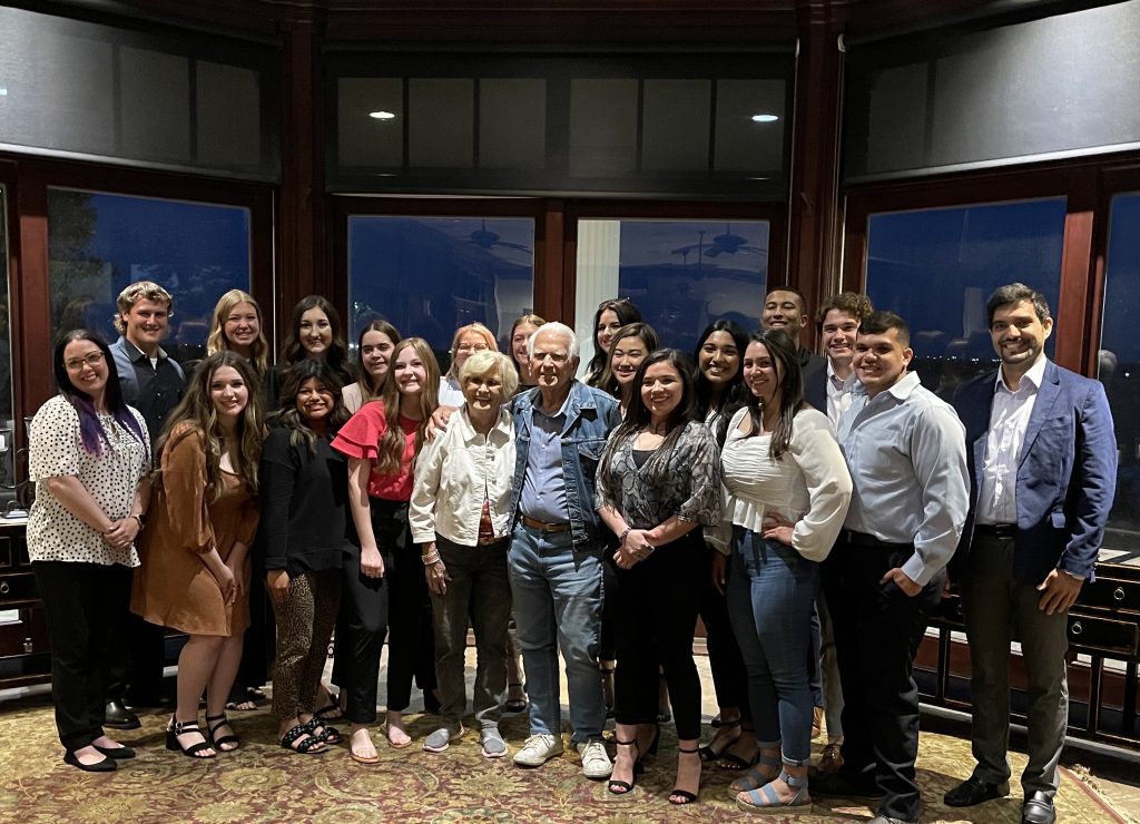
{"type": "Polygon", "coordinates": [[[594,356],[597,305],[628,297],[663,346],[692,352],[718,318],[760,325],[768,275],[766,220],[579,220],[576,333],[594,356]]]}

